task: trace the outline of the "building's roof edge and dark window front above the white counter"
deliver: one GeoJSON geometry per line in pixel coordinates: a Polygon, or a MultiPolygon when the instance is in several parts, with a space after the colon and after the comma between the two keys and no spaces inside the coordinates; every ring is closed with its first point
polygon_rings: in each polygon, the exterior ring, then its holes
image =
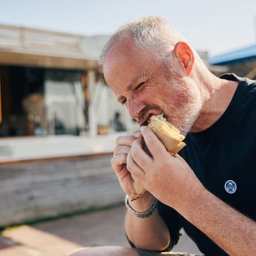
{"type": "Polygon", "coordinates": [[[98,67],[106,39],[0,25],[0,137],[111,132],[125,113],[98,67]]]}

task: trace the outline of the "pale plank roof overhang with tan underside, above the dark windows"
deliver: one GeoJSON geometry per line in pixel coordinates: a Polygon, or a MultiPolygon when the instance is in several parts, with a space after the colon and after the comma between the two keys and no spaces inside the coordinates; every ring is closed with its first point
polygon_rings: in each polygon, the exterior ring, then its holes
{"type": "Polygon", "coordinates": [[[107,38],[0,24],[0,65],[98,68],[99,53],[107,38]]]}

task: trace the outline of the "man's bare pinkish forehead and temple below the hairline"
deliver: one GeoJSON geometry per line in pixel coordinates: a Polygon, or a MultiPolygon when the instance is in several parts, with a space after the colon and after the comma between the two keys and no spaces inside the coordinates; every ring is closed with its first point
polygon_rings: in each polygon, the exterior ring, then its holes
{"type": "Polygon", "coordinates": [[[131,39],[119,39],[103,62],[106,83],[119,93],[119,89],[128,86],[129,81],[140,76],[141,72],[150,72],[158,61],[155,53],[136,46],[131,39]]]}

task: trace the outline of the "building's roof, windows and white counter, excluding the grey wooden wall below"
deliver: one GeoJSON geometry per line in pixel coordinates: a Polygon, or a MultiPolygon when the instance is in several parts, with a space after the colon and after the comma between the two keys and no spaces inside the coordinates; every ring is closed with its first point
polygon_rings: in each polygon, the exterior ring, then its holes
{"type": "Polygon", "coordinates": [[[108,152],[138,128],[98,66],[107,39],[0,25],[0,161],[108,152]]]}

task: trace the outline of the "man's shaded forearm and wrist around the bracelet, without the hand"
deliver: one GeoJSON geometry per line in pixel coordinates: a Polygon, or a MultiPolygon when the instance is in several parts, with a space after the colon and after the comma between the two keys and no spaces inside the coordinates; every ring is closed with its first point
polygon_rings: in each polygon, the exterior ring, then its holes
{"type": "MultiPolygon", "coordinates": [[[[141,205],[140,202],[133,202],[131,205],[138,211],[145,211],[150,207],[150,204],[141,205]]],[[[128,210],[124,224],[128,239],[138,248],[163,250],[170,244],[169,231],[157,209],[153,215],[142,219],[128,210]]]]}

